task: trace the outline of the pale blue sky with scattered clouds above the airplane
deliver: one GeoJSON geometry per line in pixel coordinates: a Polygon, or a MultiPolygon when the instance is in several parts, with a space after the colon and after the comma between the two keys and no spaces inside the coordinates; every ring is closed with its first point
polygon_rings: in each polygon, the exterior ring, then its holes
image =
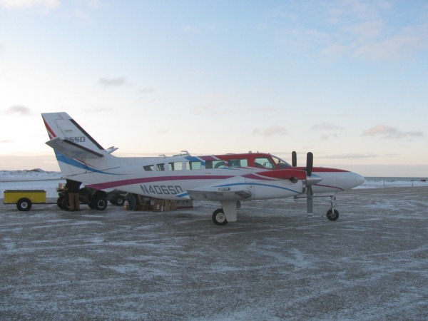
{"type": "Polygon", "coordinates": [[[57,111],[116,156],[427,177],[428,2],[0,0],[0,170],[59,170],[57,111]]]}

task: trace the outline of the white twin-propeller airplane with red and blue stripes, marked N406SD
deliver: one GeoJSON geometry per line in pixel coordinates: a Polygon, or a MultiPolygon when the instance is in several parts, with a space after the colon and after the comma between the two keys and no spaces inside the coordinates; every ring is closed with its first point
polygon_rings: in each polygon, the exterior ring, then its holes
{"type": "Polygon", "coordinates": [[[97,190],[119,189],[164,200],[214,200],[216,225],[237,221],[237,202],[294,197],[306,198],[312,215],[313,198],[330,197],[329,220],[337,220],[336,194],[364,183],[357,173],[313,166],[307,153],[305,167],[297,167],[270,153],[191,156],[116,157],[118,148],[103,148],[67,113],[42,113],[48,146],[54,148],[63,178],[97,190]]]}

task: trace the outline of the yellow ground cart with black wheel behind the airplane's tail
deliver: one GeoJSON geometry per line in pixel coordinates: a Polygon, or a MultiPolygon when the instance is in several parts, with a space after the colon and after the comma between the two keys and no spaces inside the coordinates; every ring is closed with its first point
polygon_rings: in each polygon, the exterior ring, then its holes
{"type": "Polygon", "coordinates": [[[5,190],[3,203],[27,211],[33,204],[46,204],[46,190],[5,190]]]}

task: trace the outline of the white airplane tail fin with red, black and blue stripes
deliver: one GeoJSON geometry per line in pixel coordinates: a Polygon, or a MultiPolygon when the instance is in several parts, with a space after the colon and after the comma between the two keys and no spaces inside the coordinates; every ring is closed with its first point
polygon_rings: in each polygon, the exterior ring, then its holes
{"type": "Polygon", "coordinates": [[[46,144],[54,148],[64,177],[106,173],[105,170],[113,166],[110,155],[113,148],[106,151],[67,113],[42,113],[41,116],[51,138],[46,144]]]}

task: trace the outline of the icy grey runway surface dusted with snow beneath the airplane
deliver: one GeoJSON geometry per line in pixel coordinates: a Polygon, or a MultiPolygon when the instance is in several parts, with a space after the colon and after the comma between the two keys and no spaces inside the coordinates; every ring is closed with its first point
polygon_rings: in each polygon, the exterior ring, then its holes
{"type": "Polygon", "coordinates": [[[1,320],[427,320],[428,188],[170,213],[0,204],[1,320]]]}

